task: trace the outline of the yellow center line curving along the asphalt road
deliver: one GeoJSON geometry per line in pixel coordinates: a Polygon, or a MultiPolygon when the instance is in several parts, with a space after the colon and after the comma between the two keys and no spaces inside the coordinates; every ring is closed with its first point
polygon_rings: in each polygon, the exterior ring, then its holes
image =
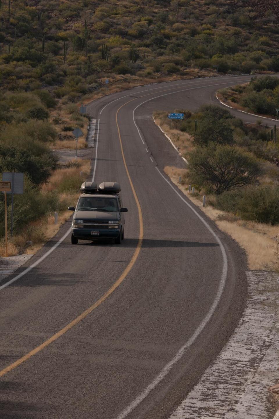
{"type": "MultiPolygon", "coordinates": [[[[173,89],[176,89],[176,88],[174,87],[173,89]]],[[[162,90],[161,92],[168,91],[168,90],[171,90],[171,89],[165,89],[165,90],[162,90]]],[[[179,90],[180,90],[180,88],[179,88],[179,90]]],[[[148,93],[146,95],[139,96],[139,98],[144,97],[144,96],[150,96],[152,94],[153,93],[148,93]]],[[[0,371],[0,377],[7,374],[7,372],[10,372],[11,370],[15,369],[16,367],[18,367],[18,365],[21,365],[23,362],[27,361],[29,358],[33,357],[33,355],[36,355],[36,354],[38,354],[38,352],[41,352],[44,348],[49,346],[52,342],[56,341],[56,339],[58,339],[59,337],[64,335],[67,331],[72,329],[80,321],[82,321],[90,313],[92,313],[92,311],[95,310],[95,308],[99,307],[99,305],[102,304],[110,296],[110,294],[113,293],[113,291],[121,284],[121,282],[123,282],[125,277],[131,271],[131,269],[132,269],[133,265],[135,264],[136,260],[138,259],[138,255],[140,253],[141,246],[142,246],[142,241],[143,241],[143,217],[142,217],[142,212],[141,212],[141,205],[138,201],[138,197],[137,197],[137,194],[136,194],[135,188],[133,186],[133,182],[132,182],[132,179],[131,179],[131,176],[130,176],[130,173],[128,171],[128,167],[127,167],[127,164],[126,164],[125,155],[124,155],[124,151],[123,151],[122,140],[121,140],[121,135],[120,135],[120,129],[119,129],[119,125],[118,125],[118,112],[120,111],[120,109],[123,108],[123,106],[127,105],[128,103],[130,103],[132,101],[135,101],[136,99],[137,98],[133,98],[130,101],[125,102],[122,106],[120,106],[118,108],[118,110],[116,112],[116,115],[115,115],[115,121],[116,121],[117,129],[118,129],[118,137],[119,137],[119,142],[120,142],[120,148],[121,148],[123,163],[124,163],[125,170],[126,170],[126,173],[127,173],[130,185],[131,185],[131,189],[133,191],[133,196],[135,198],[136,205],[137,205],[137,208],[138,208],[138,220],[139,220],[138,244],[137,244],[136,250],[133,253],[132,259],[129,262],[129,264],[127,265],[127,267],[125,268],[125,270],[123,271],[123,273],[117,279],[117,281],[115,281],[115,283],[112,285],[112,287],[110,287],[110,289],[108,291],[106,291],[105,294],[103,294],[102,297],[99,298],[99,300],[97,300],[93,305],[91,305],[91,307],[87,308],[87,310],[85,310],[82,314],[80,314],[73,321],[68,323],[67,326],[65,326],[64,328],[59,330],[56,334],[54,334],[49,339],[47,339],[44,343],[42,343],[41,345],[32,349],[32,351],[28,352],[28,354],[24,355],[23,357],[19,358],[17,361],[13,362],[13,364],[8,365],[8,367],[1,370],[0,371]]]]}

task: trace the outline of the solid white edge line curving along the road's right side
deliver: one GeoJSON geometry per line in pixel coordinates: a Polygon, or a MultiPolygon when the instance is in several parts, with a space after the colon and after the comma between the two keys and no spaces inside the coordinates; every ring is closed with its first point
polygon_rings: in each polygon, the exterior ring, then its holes
{"type": "Polygon", "coordinates": [[[162,175],[162,173],[159,171],[159,169],[157,167],[156,167],[156,169],[159,172],[159,174],[162,176],[162,178],[166,181],[166,183],[169,184],[171,189],[173,189],[174,192],[179,196],[179,198],[182,199],[182,201],[195,213],[195,215],[197,215],[197,217],[204,223],[204,225],[207,227],[207,229],[210,231],[210,233],[216,239],[216,241],[218,242],[218,244],[220,246],[221,253],[222,253],[222,256],[223,256],[223,269],[222,269],[221,280],[220,280],[220,284],[219,284],[219,287],[218,287],[218,291],[217,291],[217,295],[215,297],[215,300],[214,300],[210,310],[207,312],[207,315],[205,316],[203,321],[200,323],[199,327],[192,334],[192,336],[187,340],[187,342],[179,349],[179,351],[174,355],[172,360],[169,361],[166,364],[166,366],[161,370],[161,372],[157,375],[157,377],[154,378],[154,380],[145,388],[145,390],[143,390],[138,395],[138,397],[136,397],[135,400],[133,400],[132,403],[130,403],[129,406],[117,416],[117,419],[124,419],[125,417],[127,417],[128,414],[130,414],[148,396],[148,394],[161,382],[161,380],[163,380],[166,377],[166,375],[169,373],[171,368],[182,358],[182,356],[186,352],[186,349],[189,348],[194,343],[194,341],[197,339],[197,337],[201,334],[202,330],[205,328],[208,321],[212,317],[212,315],[213,315],[213,313],[214,313],[214,311],[215,311],[215,309],[216,309],[216,307],[217,307],[217,305],[220,301],[221,295],[222,295],[224,287],[225,287],[225,282],[226,282],[226,277],[227,277],[227,272],[228,272],[227,255],[226,255],[226,252],[225,252],[225,248],[224,248],[222,242],[220,241],[220,238],[218,237],[218,235],[216,233],[214,233],[212,228],[201,217],[201,215],[177,192],[176,189],[174,189],[174,187],[171,185],[171,183],[162,175]]]}

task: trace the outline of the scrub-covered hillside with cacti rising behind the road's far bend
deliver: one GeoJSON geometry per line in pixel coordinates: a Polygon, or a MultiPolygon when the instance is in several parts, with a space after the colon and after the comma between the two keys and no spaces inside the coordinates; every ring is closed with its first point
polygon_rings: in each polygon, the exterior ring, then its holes
{"type": "Polygon", "coordinates": [[[0,87],[77,101],[109,76],[279,71],[278,2],[267,0],[259,16],[261,3],[5,0],[0,87]]]}

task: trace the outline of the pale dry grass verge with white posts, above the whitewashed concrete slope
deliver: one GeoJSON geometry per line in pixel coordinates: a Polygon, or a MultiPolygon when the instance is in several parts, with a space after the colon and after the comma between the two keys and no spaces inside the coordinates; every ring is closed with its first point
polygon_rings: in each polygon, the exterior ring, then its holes
{"type": "Polygon", "coordinates": [[[276,257],[278,227],[251,221],[235,219],[231,214],[211,205],[202,207],[202,196],[189,194],[188,185],[179,183],[179,176],[187,175],[187,169],[167,166],[165,173],[179,189],[199,207],[220,230],[230,235],[246,251],[249,269],[276,270],[279,260],[276,257]]]}

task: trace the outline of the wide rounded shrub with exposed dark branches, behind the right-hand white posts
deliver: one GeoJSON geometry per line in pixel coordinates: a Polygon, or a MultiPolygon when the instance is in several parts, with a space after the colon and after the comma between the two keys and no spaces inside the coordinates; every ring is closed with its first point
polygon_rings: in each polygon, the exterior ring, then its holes
{"type": "Polygon", "coordinates": [[[229,145],[197,146],[188,153],[188,160],[192,183],[216,194],[253,184],[260,173],[253,155],[229,145]]]}

